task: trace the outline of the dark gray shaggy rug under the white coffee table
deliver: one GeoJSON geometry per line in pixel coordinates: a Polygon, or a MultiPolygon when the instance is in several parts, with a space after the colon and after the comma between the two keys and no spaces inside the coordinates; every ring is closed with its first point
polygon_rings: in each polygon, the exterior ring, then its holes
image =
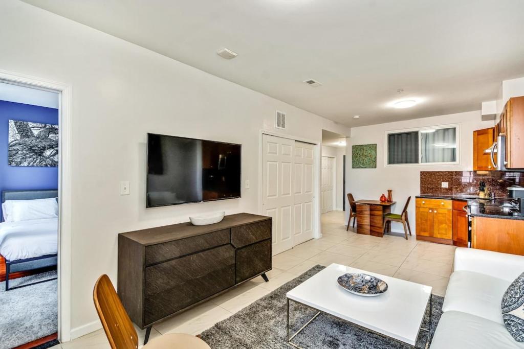
{"type": "MultiPolygon", "coordinates": [[[[317,265],[296,279],[277,288],[270,294],[260,298],[252,305],[242,309],[230,318],[215,324],[201,334],[202,339],[211,348],[286,348],[286,293],[304,280],[320,272],[324,267],[317,265]]],[[[433,296],[433,331],[442,315],[444,298],[433,296]]],[[[290,322],[296,332],[316,312],[310,308],[291,302],[290,322]],[[300,322],[300,323],[296,323],[300,322]]],[[[423,328],[427,328],[429,312],[426,314],[423,328]]],[[[402,321],[399,314],[398,321],[402,321]]],[[[423,347],[427,332],[421,331],[417,340],[417,348],[423,347]]],[[[387,339],[386,337],[368,332],[362,328],[333,317],[321,314],[307,328],[293,339],[304,348],[409,348],[409,345],[387,339]]]]}

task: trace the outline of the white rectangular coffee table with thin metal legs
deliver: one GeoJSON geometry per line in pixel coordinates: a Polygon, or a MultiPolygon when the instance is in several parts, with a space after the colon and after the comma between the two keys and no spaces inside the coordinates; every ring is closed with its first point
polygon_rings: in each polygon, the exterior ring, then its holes
{"type": "MultiPolygon", "coordinates": [[[[299,348],[291,340],[323,312],[414,346],[421,330],[431,334],[431,321],[429,329],[421,329],[428,307],[431,319],[431,289],[431,286],[331,264],[286,294],[288,343],[299,348]],[[346,273],[374,275],[388,284],[388,290],[376,297],[353,295],[337,283],[337,278],[346,273]],[[315,316],[293,335],[289,333],[290,301],[318,310],[315,316]]],[[[428,344],[429,336],[426,346],[428,344]]]]}

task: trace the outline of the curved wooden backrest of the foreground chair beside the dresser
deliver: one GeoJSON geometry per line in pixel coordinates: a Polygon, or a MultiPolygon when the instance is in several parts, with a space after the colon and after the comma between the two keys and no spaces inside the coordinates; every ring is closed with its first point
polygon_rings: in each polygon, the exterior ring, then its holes
{"type": "Polygon", "coordinates": [[[137,349],[138,335],[107,275],[96,280],[93,301],[113,349],[137,349]]]}

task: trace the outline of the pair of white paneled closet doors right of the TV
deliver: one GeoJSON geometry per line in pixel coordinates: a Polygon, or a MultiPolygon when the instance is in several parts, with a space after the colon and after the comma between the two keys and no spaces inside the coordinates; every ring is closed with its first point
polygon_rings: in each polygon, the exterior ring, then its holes
{"type": "Polygon", "coordinates": [[[262,147],[262,209],[277,254],[313,238],[313,145],[264,134],[262,147]]]}

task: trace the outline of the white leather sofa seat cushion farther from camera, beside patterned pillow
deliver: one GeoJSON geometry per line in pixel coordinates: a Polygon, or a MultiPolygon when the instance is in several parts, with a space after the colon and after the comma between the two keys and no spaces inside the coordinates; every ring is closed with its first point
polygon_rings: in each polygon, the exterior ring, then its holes
{"type": "Polygon", "coordinates": [[[457,271],[447,284],[442,311],[462,311],[504,324],[500,303],[511,282],[475,272],[457,271]]]}

